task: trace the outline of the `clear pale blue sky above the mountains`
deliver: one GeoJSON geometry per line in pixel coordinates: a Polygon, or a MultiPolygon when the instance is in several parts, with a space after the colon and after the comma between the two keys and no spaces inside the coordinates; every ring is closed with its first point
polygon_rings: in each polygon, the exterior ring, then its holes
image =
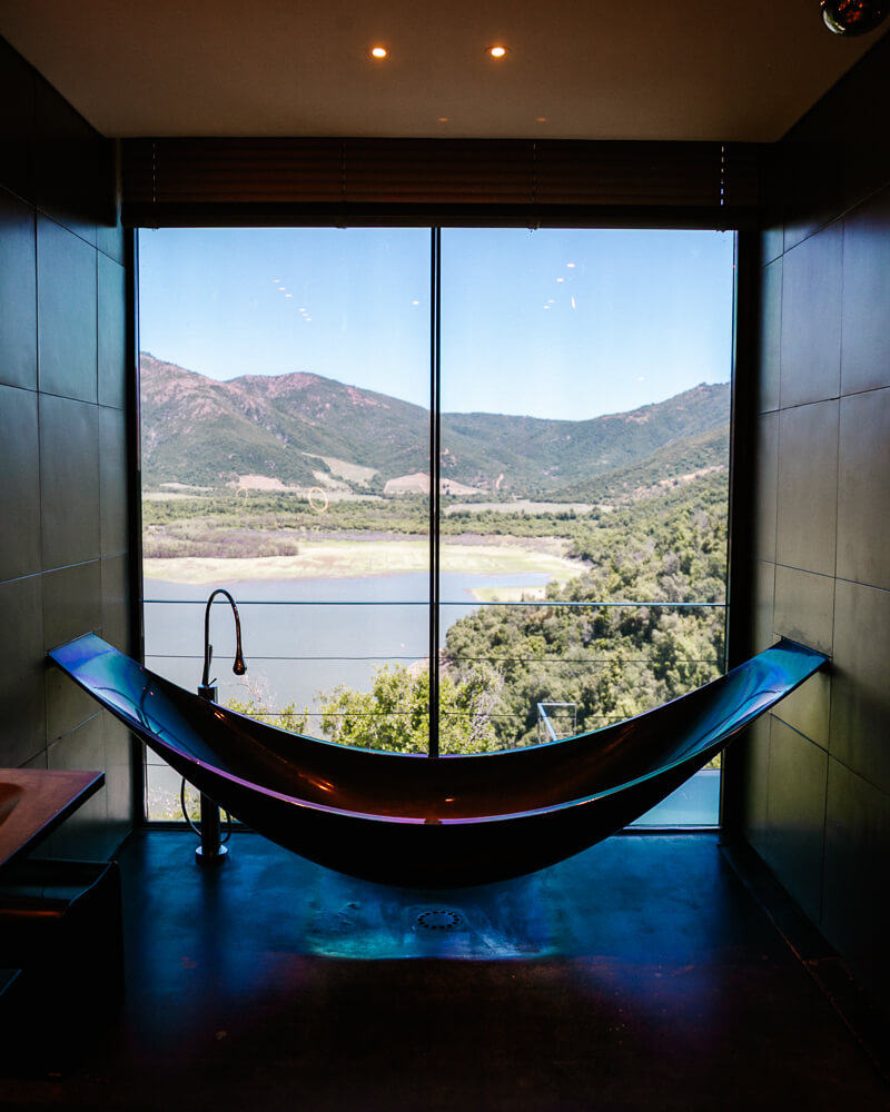
{"type": "MultiPolygon", "coordinates": [[[[139,234],[140,346],[217,379],[310,371],[428,404],[429,231],[139,234]]],[[[730,234],[446,229],[448,411],[582,419],[728,381],[730,234]]]]}

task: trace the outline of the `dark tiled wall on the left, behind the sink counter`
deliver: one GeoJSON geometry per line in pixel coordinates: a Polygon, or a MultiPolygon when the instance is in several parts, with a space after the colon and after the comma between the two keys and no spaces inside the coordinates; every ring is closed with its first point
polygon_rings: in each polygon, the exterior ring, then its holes
{"type": "Polygon", "coordinates": [[[0,39],[0,766],[105,770],[47,843],[102,858],[134,818],[127,732],[44,663],[129,649],[127,286],[115,145],[0,39]]]}

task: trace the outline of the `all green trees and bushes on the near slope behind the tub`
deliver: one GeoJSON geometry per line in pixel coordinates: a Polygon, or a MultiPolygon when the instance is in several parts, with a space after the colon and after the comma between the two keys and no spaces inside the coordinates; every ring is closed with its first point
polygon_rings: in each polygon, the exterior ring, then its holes
{"type": "MultiPolygon", "coordinates": [[[[482,606],[448,629],[443,752],[537,741],[538,703],[572,704],[555,724],[561,734],[581,732],[720,674],[725,470],[601,513],[574,532],[572,552],[590,568],[564,587],[551,584],[544,605],[482,606]]],[[[340,687],[326,694],[324,731],[348,744],[425,752],[427,693],[426,669],[384,668],[370,693],[340,687]]]]}

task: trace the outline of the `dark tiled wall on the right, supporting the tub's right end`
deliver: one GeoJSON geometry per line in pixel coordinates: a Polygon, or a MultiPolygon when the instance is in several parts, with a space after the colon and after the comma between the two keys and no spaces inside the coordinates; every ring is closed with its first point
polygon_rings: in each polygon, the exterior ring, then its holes
{"type": "Polygon", "coordinates": [[[771,152],[754,648],[832,656],[745,751],[749,842],[890,1004],[890,36],[771,152]]]}

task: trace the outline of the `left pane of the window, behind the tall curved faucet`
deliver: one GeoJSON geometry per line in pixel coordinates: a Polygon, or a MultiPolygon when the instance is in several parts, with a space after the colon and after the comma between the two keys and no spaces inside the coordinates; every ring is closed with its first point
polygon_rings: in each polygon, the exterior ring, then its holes
{"type": "MultiPolygon", "coordinates": [[[[154,671],[200,682],[205,602],[226,587],[247,673],[233,675],[217,598],[219,702],[350,744],[425,746],[429,249],[423,229],[140,232],[154,671]]],[[[149,761],[150,817],[178,817],[149,761]]]]}

